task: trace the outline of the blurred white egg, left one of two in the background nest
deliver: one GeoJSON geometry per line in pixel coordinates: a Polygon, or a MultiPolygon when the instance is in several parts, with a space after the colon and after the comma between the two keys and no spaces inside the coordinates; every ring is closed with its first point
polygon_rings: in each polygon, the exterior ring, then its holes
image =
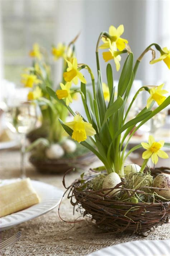
{"type": "Polygon", "coordinates": [[[49,159],[59,159],[64,155],[64,150],[59,144],[52,144],[46,150],[46,156],[49,159]]]}

